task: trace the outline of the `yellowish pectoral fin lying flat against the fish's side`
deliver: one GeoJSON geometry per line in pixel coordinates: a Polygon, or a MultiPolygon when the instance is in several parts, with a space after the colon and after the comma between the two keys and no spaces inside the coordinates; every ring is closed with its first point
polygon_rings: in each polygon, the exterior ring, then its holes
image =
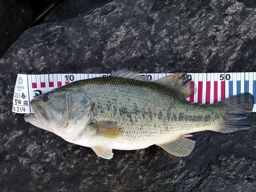
{"type": "Polygon", "coordinates": [[[89,126],[92,126],[94,129],[96,129],[96,135],[106,138],[120,137],[123,133],[122,128],[116,125],[115,121],[99,121],[89,126]]]}

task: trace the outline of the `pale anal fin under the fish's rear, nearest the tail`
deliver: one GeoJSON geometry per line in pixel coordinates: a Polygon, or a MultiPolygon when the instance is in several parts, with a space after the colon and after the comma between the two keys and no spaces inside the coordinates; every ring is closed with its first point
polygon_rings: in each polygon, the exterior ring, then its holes
{"type": "Polygon", "coordinates": [[[179,157],[188,156],[193,151],[196,143],[196,141],[186,138],[191,136],[192,135],[182,135],[175,141],[160,144],[158,146],[162,147],[166,152],[172,155],[179,157]]]}

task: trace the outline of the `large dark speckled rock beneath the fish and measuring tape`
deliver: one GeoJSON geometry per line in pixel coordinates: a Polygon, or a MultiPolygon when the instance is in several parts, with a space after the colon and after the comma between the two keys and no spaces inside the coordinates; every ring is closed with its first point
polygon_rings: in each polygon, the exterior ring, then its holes
{"type": "Polygon", "coordinates": [[[28,29],[0,60],[0,190],[254,191],[255,128],[194,133],[188,157],[151,146],[105,160],[11,112],[17,73],[256,71],[249,1],[116,0],[91,10],[28,29]]]}

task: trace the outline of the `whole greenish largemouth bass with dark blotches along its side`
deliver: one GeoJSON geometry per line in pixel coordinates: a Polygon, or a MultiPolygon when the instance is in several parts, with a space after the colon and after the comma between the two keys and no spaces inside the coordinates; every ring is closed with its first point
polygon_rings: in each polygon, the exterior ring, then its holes
{"type": "Polygon", "coordinates": [[[68,142],[91,147],[105,159],[112,150],[140,150],[158,145],[188,156],[191,133],[248,130],[254,98],[242,93],[214,104],[188,102],[197,92],[191,78],[175,73],[156,81],[127,69],[110,76],[78,80],[31,100],[33,114],[24,119],[68,142]]]}

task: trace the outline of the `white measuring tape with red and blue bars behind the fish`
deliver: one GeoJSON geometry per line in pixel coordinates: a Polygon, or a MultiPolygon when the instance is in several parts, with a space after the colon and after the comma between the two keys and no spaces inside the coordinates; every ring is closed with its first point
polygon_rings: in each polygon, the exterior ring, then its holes
{"type": "MultiPolygon", "coordinates": [[[[172,73],[140,73],[157,80],[172,73]]],[[[30,100],[73,81],[104,77],[110,74],[18,74],[13,95],[14,113],[33,113],[30,100]]],[[[197,93],[187,98],[190,102],[211,104],[240,93],[251,93],[256,101],[256,72],[242,73],[187,73],[191,89],[197,93]]],[[[256,112],[255,103],[252,112],[256,112]]]]}

